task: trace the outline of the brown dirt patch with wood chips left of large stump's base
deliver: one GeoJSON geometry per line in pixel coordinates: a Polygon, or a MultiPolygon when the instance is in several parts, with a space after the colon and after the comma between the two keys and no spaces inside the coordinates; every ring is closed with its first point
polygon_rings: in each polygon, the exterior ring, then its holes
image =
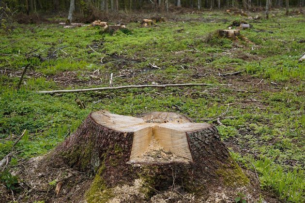
{"type": "Polygon", "coordinates": [[[45,202],[81,202],[84,193],[91,185],[91,178],[69,167],[42,168],[39,164],[43,157],[35,157],[24,164],[18,164],[12,174],[20,179],[20,187],[13,192],[0,188],[0,201],[29,202],[44,200],[45,202]],[[59,194],[56,194],[57,184],[62,184],[59,194]],[[13,196],[14,194],[14,196],[13,196]]]}

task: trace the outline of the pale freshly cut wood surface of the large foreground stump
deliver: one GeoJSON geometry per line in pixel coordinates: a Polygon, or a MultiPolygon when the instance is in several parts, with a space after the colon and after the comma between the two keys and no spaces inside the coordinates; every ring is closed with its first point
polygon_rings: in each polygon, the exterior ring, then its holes
{"type": "Polygon", "coordinates": [[[161,147],[162,150],[192,161],[186,132],[199,131],[212,126],[207,123],[191,123],[185,116],[166,112],[153,112],[141,117],[132,117],[98,111],[93,112],[91,117],[97,124],[107,129],[133,132],[130,160],[141,157],[145,153],[150,154],[149,148],[155,150],[161,147]],[[153,145],[152,142],[154,142],[153,145]]]}

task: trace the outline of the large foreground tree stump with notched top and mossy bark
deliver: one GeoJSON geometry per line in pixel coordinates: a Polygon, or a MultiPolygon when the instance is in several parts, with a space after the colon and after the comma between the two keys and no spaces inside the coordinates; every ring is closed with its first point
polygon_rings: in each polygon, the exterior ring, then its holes
{"type": "Polygon", "coordinates": [[[169,188],[207,198],[219,187],[249,182],[212,124],[192,123],[176,113],[132,117],[92,112],[44,163],[95,174],[88,202],[119,197],[143,202],[169,188]],[[126,187],[131,188],[129,199],[118,194],[126,187]]]}

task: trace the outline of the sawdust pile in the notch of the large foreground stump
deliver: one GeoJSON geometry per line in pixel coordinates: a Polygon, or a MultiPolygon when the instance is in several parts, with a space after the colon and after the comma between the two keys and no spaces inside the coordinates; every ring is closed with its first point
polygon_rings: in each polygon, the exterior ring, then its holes
{"type": "Polygon", "coordinates": [[[129,163],[170,163],[170,162],[189,162],[189,159],[177,156],[166,151],[159,145],[158,141],[152,136],[152,141],[143,154],[129,160],[129,163]]]}

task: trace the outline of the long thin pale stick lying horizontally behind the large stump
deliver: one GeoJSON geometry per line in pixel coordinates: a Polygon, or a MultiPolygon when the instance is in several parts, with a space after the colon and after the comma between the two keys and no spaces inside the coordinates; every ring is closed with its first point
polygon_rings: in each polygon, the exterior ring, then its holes
{"type": "Polygon", "coordinates": [[[127,85],[119,87],[96,87],[88,89],[61,89],[61,90],[50,90],[50,91],[37,91],[39,94],[52,94],[52,93],[66,93],[66,92],[87,92],[97,90],[113,90],[113,89],[127,89],[127,88],[145,88],[145,87],[185,87],[185,86],[231,86],[231,84],[207,84],[207,83],[185,83],[185,84],[165,84],[165,85],[127,85]]]}

